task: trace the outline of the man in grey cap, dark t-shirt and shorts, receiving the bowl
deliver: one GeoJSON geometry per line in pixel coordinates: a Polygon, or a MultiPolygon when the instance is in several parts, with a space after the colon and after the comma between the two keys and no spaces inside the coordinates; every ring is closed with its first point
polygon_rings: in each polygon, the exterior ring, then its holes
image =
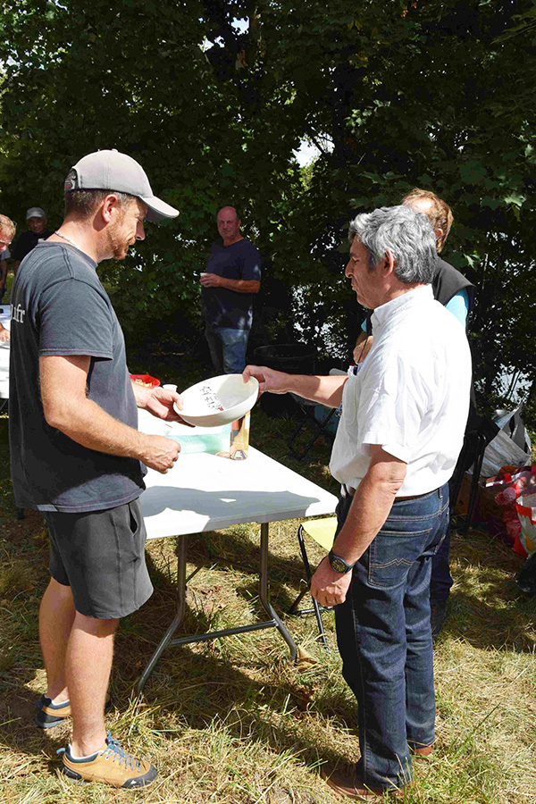
{"type": "Polygon", "coordinates": [[[72,716],[63,772],[135,788],[155,767],[105,731],[119,619],[153,591],[138,504],[142,464],[165,473],[179,445],[137,430],[137,406],[179,419],[180,396],[130,381],[121,327],[96,266],[145,239],[144,220],[178,211],[156,198],[130,156],[99,151],[65,181],[65,220],[21,263],[13,284],[10,447],[16,505],[42,511],[51,580],[39,636],[47,690],[36,724],[72,716]]]}

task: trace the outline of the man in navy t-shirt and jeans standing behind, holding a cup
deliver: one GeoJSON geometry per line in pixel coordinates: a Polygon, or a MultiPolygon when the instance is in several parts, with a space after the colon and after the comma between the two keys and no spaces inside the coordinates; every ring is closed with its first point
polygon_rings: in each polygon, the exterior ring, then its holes
{"type": "Polygon", "coordinates": [[[220,237],[201,274],[205,337],[216,373],[240,374],[246,365],[253,297],[261,288],[261,255],[240,233],[233,206],[223,206],[216,222],[220,237]]]}

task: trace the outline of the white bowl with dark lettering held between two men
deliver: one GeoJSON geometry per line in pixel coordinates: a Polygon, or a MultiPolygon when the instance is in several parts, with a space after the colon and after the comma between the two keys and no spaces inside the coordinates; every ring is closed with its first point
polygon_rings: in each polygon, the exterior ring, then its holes
{"type": "Polygon", "coordinates": [[[184,407],[179,410],[175,406],[175,410],[188,424],[218,427],[245,416],[255,405],[258,391],[255,377],[244,382],[241,374],[222,374],[183,391],[180,396],[184,407]]]}

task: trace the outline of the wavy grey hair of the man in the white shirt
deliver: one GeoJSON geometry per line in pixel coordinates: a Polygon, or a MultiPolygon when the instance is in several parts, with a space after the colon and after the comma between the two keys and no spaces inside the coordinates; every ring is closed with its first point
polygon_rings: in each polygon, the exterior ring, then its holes
{"type": "Polygon", "coordinates": [[[348,239],[358,237],[374,269],[388,249],[395,259],[395,276],[401,282],[430,284],[437,259],[436,237],[428,215],[410,206],[381,206],[357,215],[350,222],[348,239]]]}

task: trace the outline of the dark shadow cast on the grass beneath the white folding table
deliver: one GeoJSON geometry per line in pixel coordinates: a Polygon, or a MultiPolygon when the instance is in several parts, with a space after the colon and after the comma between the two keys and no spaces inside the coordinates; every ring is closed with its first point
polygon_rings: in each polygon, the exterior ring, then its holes
{"type": "MultiPolygon", "coordinates": [[[[246,592],[247,588],[246,584],[241,590],[246,592]]],[[[120,693],[120,703],[127,704],[155,647],[147,644],[143,634],[145,626],[140,620],[152,622],[158,629],[156,636],[161,636],[172,616],[173,596],[172,583],[159,586],[143,612],[138,613],[138,622],[131,624],[128,633],[118,634],[116,657],[121,656],[121,670],[116,661],[113,684],[120,693]]],[[[248,614],[256,608],[255,600],[248,614]]],[[[223,611],[223,615],[226,613],[223,611]]],[[[184,631],[205,632],[221,627],[218,615],[219,611],[214,619],[187,605],[184,631]]],[[[228,620],[225,625],[229,625],[228,620]]],[[[310,735],[300,736],[299,732],[306,709],[312,705],[348,733],[348,724],[356,722],[355,702],[349,694],[341,695],[340,690],[329,683],[318,683],[310,690],[290,664],[285,643],[274,637],[273,632],[263,632],[266,633],[272,633],[272,638],[263,639],[257,632],[238,639],[167,649],[144,692],[144,704],[154,713],[152,727],[155,731],[166,733],[170,731],[170,720],[178,720],[180,728],[172,730],[170,736],[174,739],[176,731],[206,731],[216,722],[223,724],[233,738],[264,741],[277,752],[291,750],[299,754],[306,765],[314,765],[319,752],[322,759],[339,759],[339,752],[333,749],[327,736],[325,744],[315,745],[310,735]]],[[[315,672],[322,675],[322,663],[315,672]]]]}

